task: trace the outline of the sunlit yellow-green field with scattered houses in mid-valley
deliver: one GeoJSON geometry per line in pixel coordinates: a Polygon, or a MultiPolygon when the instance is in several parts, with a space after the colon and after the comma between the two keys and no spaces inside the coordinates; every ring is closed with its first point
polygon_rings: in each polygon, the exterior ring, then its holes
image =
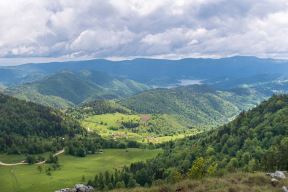
{"type": "Polygon", "coordinates": [[[121,113],[93,115],[81,121],[83,127],[105,138],[145,143],[161,143],[199,133],[197,129],[188,129],[182,123],[179,117],[168,114],[121,113]]]}

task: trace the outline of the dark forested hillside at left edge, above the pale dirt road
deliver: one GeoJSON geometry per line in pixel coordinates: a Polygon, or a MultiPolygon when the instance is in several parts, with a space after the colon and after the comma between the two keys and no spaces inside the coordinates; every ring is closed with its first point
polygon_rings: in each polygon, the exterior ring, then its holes
{"type": "Polygon", "coordinates": [[[48,138],[71,137],[83,131],[77,122],[57,110],[3,94],[0,94],[0,114],[2,152],[20,152],[36,143],[41,148],[48,138]]]}

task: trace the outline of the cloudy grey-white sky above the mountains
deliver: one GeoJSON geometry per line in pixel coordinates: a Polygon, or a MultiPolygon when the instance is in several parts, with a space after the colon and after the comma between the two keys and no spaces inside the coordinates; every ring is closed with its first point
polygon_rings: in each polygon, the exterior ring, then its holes
{"type": "Polygon", "coordinates": [[[0,1],[2,59],[231,55],[288,58],[288,1],[0,1]]]}

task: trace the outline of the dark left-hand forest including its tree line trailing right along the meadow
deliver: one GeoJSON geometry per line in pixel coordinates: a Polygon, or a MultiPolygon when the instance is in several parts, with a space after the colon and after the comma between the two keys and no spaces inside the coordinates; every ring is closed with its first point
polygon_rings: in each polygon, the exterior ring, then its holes
{"type": "Polygon", "coordinates": [[[83,157],[103,148],[139,147],[135,142],[105,140],[58,110],[3,94],[0,114],[0,152],[8,154],[40,154],[65,148],[67,154],[83,157]]]}

